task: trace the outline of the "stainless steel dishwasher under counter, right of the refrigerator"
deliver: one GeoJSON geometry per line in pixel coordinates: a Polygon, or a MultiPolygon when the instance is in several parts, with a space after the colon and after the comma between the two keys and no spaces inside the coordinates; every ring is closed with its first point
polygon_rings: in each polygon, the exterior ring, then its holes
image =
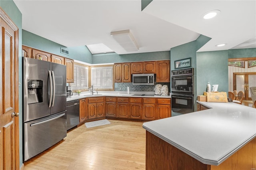
{"type": "Polygon", "coordinates": [[[79,100],[67,102],[67,130],[79,124],[79,100]]]}

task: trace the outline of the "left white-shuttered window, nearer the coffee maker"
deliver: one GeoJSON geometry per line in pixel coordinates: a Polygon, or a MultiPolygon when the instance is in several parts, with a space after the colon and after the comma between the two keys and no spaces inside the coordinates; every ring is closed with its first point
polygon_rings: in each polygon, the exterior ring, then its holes
{"type": "Polygon", "coordinates": [[[74,83],[72,89],[88,89],[88,67],[74,64],[74,83]]]}

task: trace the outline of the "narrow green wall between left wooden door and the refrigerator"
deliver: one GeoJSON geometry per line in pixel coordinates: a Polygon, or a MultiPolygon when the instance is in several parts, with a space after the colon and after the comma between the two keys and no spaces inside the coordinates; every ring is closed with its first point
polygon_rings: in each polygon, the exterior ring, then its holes
{"type": "Polygon", "coordinates": [[[22,14],[12,0],[0,0],[0,7],[6,12],[19,29],[19,145],[20,166],[22,165],[22,14]]]}

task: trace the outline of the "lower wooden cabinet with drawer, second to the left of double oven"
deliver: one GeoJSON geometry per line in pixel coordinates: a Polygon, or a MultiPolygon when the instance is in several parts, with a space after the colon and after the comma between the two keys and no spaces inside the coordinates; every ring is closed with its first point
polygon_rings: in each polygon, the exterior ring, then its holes
{"type": "Polygon", "coordinates": [[[156,119],[156,99],[143,98],[142,119],[155,120],[156,119]]]}

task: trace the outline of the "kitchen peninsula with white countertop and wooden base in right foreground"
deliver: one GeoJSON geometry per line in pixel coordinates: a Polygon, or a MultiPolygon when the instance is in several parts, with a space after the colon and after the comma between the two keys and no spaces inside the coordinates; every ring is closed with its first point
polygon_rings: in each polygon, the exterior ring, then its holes
{"type": "Polygon", "coordinates": [[[209,109],[143,124],[146,170],[255,170],[256,109],[198,103],[209,109]]]}

